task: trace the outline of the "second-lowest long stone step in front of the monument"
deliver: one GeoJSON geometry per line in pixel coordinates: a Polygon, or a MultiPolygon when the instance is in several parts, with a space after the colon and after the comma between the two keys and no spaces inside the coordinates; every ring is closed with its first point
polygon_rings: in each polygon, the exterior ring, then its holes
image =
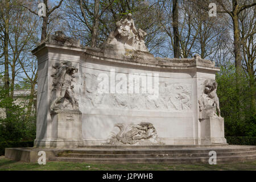
{"type": "MultiPolygon", "coordinates": [[[[254,151],[238,151],[238,152],[217,152],[217,156],[244,156],[244,155],[256,155],[256,150],[254,151]]],[[[198,157],[208,157],[209,153],[195,153],[195,154],[63,154],[59,157],[65,158],[86,158],[86,159],[97,159],[97,158],[198,158],[198,157]]]]}

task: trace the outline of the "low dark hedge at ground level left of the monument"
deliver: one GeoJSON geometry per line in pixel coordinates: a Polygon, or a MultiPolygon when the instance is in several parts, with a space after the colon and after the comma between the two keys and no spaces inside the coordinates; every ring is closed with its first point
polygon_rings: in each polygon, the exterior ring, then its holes
{"type": "Polygon", "coordinates": [[[5,155],[5,148],[15,147],[33,147],[34,140],[32,141],[5,141],[0,142],[0,156],[5,155]]]}

